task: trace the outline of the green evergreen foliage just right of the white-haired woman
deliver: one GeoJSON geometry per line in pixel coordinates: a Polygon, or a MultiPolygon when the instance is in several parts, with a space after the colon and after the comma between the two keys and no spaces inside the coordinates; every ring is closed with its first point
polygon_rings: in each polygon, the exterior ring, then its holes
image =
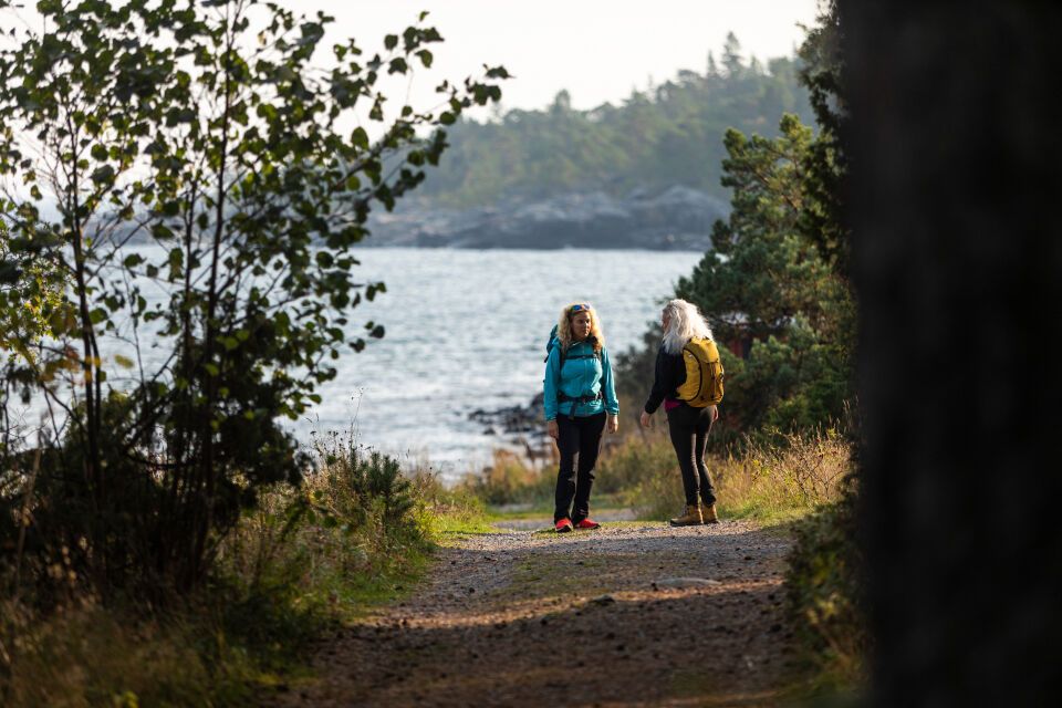
{"type": "Polygon", "coordinates": [[[749,344],[746,360],[726,362],[731,423],[745,430],[839,420],[848,398],[853,302],[802,230],[805,215],[822,209],[802,169],[815,138],[792,115],[780,132],[773,139],[727,133],[723,184],[733,210],[717,222],[714,250],[676,288],[719,341],[749,344]]]}

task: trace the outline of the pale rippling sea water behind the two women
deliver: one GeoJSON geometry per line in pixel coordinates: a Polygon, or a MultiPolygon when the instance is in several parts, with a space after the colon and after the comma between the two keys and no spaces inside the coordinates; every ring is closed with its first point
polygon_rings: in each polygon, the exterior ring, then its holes
{"type": "MultiPolygon", "coordinates": [[[[135,247],[157,262],[160,252],[149,252],[155,248],[135,247]]],[[[428,465],[444,480],[480,468],[500,442],[470,413],[528,404],[541,391],[545,342],[563,305],[589,302],[597,310],[614,358],[641,343],[678,278],[701,258],[685,251],[417,248],[356,256],[357,279],[383,281],[386,292],[350,311],[348,334],[364,336],[367,321],[383,324],[386,334],[368,340],[361,353],[346,350],[333,362],[336,377],[317,389],[322,402],[285,425],[306,444],[353,431],[361,444],[407,465],[428,465]]],[[[147,368],[166,360],[166,347],[146,327],[139,337],[147,368]]],[[[121,385],[119,376],[113,381],[121,385]]]]}

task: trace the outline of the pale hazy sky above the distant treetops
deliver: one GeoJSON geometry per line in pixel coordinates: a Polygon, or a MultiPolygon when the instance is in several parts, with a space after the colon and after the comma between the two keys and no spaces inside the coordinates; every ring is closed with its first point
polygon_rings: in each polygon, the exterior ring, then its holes
{"type": "MultiPolygon", "coordinates": [[[[438,80],[464,79],[483,63],[503,64],[516,79],[503,84],[502,105],[541,108],[566,88],[576,108],[616,103],[652,79],[679,69],[704,72],[727,32],[743,53],[762,61],[792,54],[813,24],[816,0],[281,0],[294,10],[336,18],[329,39],[354,37],[379,51],[384,34],[399,33],[429,11],[446,42],[433,49],[430,76],[414,80],[416,106],[435,104],[438,80]]],[[[403,87],[405,90],[405,87],[403,87]]],[[[392,94],[393,95],[393,94],[392,94]]],[[[395,95],[394,98],[402,100],[395,95]]]]}

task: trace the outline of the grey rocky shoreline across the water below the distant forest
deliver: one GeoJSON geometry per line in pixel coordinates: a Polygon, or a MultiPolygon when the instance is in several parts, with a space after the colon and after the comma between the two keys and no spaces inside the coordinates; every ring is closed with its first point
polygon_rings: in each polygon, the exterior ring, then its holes
{"type": "Polygon", "coordinates": [[[511,199],[491,207],[448,209],[410,198],[392,214],[374,211],[368,247],[596,248],[697,250],[711,247],[711,227],[726,218],[720,199],[675,185],[625,197],[602,191],[511,199]]]}

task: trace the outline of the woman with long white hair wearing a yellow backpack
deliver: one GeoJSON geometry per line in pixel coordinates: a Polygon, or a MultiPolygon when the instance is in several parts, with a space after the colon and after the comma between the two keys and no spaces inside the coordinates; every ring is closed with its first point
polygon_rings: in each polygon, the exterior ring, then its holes
{"type": "MultiPolygon", "coordinates": [[[[699,523],[718,523],[716,494],[705,465],[705,448],[708,445],[708,431],[719,417],[715,405],[704,405],[705,398],[695,398],[687,391],[688,372],[697,371],[697,358],[690,350],[691,342],[707,341],[710,350],[711,330],[701,316],[697,305],[685,300],[671,300],[660,314],[664,326],[664,341],[656,355],[656,375],[653,391],[642,412],[642,426],[653,425],[653,414],[664,404],[667,413],[667,427],[671,445],[678,456],[678,466],[683,472],[683,489],[686,492],[686,508],[683,516],[671,519],[671,525],[687,527],[699,523]],[[687,360],[690,360],[687,365],[687,360]],[[695,404],[695,405],[691,405],[695,404]]],[[[718,362],[718,352],[716,352],[718,362]]],[[[721,367],[719,368],[721,375],[721,367]]],[[[721,379],[718,382],[721,397],[721,379]]],[[[697,382],[700,386],[700,382],[697,382]]]]}

